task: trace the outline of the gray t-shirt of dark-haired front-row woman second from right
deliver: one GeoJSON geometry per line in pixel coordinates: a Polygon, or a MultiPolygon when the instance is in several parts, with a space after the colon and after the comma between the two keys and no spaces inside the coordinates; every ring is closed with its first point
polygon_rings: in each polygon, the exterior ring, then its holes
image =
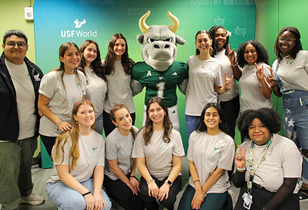
{"type": "MultiPolygon", "coordinates": [[[[232,170],[234,156],[235,141],[228,134],[224,132],[215,136],[210,136],[206,132],[190,134],[187,159],[195,163],[201,186],[207,182],[216,167],[225,169],[207,193],[225,193],[230,188],[227,170],[232,170]]],[[[195,188],[191,177],[189,184],[195,188]]]]}

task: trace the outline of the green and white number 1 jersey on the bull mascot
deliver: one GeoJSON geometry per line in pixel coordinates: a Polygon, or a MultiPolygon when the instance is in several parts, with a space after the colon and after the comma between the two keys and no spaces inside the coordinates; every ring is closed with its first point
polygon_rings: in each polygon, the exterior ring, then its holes
{"type": "Polygon", "coordinates": [[[188,78],[188,66],[184,62],[174,62],[166,71],[155,71],[146,62],[137,62],[132,68],[132,77],[146,84],[144,104],[152,97],[160,97],[167,107],[176,105],[176,85],[188,78]]]}

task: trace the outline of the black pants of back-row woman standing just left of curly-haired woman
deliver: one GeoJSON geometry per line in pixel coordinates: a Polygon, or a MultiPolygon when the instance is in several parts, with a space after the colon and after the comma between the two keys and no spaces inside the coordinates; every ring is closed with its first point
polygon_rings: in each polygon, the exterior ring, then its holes
{"type": "Polygon", "coordinates": [[[235,120],[239,116],[239,94],[228,102],[221,102],[221,107],[225,113],[225,122],[231,137],[235,139],[235,120]]]}

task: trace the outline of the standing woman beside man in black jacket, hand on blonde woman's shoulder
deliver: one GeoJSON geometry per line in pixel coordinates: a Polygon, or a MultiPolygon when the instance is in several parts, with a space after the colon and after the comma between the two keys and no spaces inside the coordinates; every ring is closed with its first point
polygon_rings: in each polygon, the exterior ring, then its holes
{"type": "Polygon", "coordinates": [[[59,48],[60,66],[47,73],[38,90],[38,109],[43,113],[39,134],[51,156],[52,146],[61,132],[71,130],[73,104],[85,96],[85,75],[77,70],[79,48],[66,42],[59,48]]]}

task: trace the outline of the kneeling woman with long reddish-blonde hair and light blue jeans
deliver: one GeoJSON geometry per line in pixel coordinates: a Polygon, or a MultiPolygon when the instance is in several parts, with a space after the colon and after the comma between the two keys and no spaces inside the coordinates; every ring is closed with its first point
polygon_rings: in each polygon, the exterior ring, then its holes
{"type": "Polygon", "coordinates": [[[102,189],[105,141],[92,130],[94,120],[93,104],[86,99],[76,102],[71,130],[59,134],[55,141],[46,193],[58,209],[111,209],[102,189]]]}

